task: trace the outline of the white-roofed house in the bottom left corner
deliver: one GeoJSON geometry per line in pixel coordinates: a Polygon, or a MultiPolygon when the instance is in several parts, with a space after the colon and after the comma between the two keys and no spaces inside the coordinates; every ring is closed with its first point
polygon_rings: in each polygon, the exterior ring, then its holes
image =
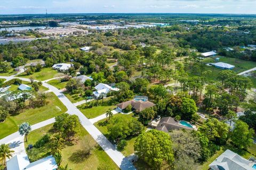
{"type": "Polygon", "coordinates": [[[55,158],[47,156],[30,163],[27,155],[15,155],[6,163],[7,170],[55,170],[58,168],[55,158]]]}

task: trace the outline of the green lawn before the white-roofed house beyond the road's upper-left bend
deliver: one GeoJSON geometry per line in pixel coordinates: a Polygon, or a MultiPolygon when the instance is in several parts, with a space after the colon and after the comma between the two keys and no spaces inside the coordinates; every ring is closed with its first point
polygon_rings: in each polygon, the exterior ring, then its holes
{"type": "Polygon", "coordinates": [[[27,75],[27,73],[22,73],[19,74],[18,77],[22,78],[30,78],[33,77],[35,80],[43,81],[43,80],[48,80],[52,79],[55,77],[60,77],[62,76],[63,73],[59,73],[58,71],[51,69],[51,68],[43,68],[41,72],[35,72],[32,75],[27,75]]]}

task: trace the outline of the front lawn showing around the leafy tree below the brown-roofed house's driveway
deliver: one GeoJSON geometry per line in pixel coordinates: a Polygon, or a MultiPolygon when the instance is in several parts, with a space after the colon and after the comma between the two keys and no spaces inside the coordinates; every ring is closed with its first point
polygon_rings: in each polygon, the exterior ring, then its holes
{"type": "MultiPolygon", "coordinates": [[[[124,114],[116,114],[114,115],[114,117],[123,117],[124,119],[126,120],[129,120],[129,118],[131,118],[133,116],[133,114],[129,114],[129,115],[124,115],[124,114]]],[[[106,118],[99,121],[99,122],[96,122],[94,123],[94,125],[100,130],[100,132],[105,135],[105,137],[109,138],[109,133],[108,133],[108,130],[107,130],[107,123],[106,123],[106,118]]],[[[135,140],[137,139],[137,137],[133,137],[133,138],[130,138],[130,139],[126,139],[127,141],[127,146],[124,148],[122,152],[122,154],[124,154],[124,156],[129,156],[131,154],[134,153],[134,142],[135,140]]]]}

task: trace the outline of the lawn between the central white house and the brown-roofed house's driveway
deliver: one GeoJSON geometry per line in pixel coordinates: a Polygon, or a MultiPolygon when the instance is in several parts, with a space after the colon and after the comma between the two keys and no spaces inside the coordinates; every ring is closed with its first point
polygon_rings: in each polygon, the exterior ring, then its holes
{"type": "Polygon", "coordinates": [[[87,104],[83,104],[78,106],[77,108],[87,117],[87,118],[94,118],[97,116],[100,116],[102,114],[105,114],[108,109],[114,109],[116,106],[113,105],[108,105],[107,102],[105,101],[103,105],[101,106],[95,106],[92,108],[85,108],[87,104]]]}

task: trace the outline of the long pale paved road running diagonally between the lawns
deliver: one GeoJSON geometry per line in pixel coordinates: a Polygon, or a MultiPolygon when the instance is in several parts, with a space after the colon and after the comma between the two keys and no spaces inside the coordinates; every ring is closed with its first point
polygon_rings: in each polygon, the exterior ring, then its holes
{"type": "MultiPolygon", "coordinates": [[[[2,79],[11,80],[13,77],[0,77],[2,79]]],[[[26,78],[19,78],[23,81],[30,81],[26,78]]],[[[76,108],[76,106],[71,103],[71,101],[63,95],[60,90],[57,88],[51,86],[50,84],[47,84],[43,82],[43,86],[46,88],[49,88],[59,99],[60,101],[67,107],[69,114],[75,114],[79,117],[79,120],[81,121],[82,126],[86,129],[87,132],[90,133],[90,135],[93,137],[93,139],[101,146],[103,150],[108,154],[108,156],[116,163],[116,165],[123,169],[136,169],[133,164],[130,162],[129,158],[125,158],[125,156],[116,150],[116,147],[91,123],[91,121],[86,118],[82,112],[79,111],[79,109],[76,108]]],[[[13,135],[13,134],[11,134],[13,135]]],[[[8,137],[6,137],[8,138],[8,137]]],[[[15,139],[15,138],[14,138],[15,139]]],[[[10,142],[5,142],[10,143],[10,142]]]]}

